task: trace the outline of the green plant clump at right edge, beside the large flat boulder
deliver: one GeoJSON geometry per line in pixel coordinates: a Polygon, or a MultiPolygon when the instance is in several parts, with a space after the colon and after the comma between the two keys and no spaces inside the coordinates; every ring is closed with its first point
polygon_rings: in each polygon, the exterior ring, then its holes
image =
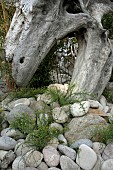
{"type": "Polygon", "coordinates": [[[113,117],[109,119],[108,125],[102,127],[97,126],[92,134],[92,138],[96,139],[96,141],[103,142],[105,144],[110,141],[113,142],[113,117]]]}

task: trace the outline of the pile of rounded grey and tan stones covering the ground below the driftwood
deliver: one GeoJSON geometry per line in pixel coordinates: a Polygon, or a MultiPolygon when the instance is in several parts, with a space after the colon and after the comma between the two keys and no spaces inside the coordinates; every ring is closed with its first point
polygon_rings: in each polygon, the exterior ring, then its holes
{"type": "Polygon", "coordinates": [[[113,170],[113,143],[92,140],[92,131],[97,127],[107,127],[107,117],[113,115],[113,105],[107,103],[104,96],[100,101],[87,100],[60,107],[51,103],[50,96],[37,95],[34,98],[21,98],[2,101],[5,115],[0,136],[1,170],[113,170]],[[58,138],[51,140],[42,151],[25,143],[24,134],[11,129],[10,123],[16,115],[29,113],[35,117],[36,110],[45,112],[52,107],[54,122],[50,127],[62,130],[67,123],[67,130],[58,138]],[[71,116],[70,116],[71,115],[71,116]]]}

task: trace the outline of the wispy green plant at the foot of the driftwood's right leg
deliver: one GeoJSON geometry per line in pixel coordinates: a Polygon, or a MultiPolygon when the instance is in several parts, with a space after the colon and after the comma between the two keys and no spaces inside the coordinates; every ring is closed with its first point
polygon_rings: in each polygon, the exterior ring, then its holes
{"type": "Polygon", "coordinates": [[[75,85],[70,84],[66,93],[55,87],[49,88],[47,94],[51,96],[52,102],[58,102],[60,106],[81,102],[86,98],[87,93],[73,93],[74,87],[75,85]]]}

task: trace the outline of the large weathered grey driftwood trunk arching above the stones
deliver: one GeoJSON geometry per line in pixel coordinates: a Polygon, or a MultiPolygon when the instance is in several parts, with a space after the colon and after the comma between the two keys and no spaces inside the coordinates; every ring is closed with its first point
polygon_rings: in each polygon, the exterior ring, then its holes
{"type": "Polygon", "coordinates": [[[85,90],[99,97],[113,66],[111,41],[101,19],[112,9],[110,0],[20,0],[5,44],[17,85],[28,84],[58,39],[77,32],[74,92],[85,90]]]}

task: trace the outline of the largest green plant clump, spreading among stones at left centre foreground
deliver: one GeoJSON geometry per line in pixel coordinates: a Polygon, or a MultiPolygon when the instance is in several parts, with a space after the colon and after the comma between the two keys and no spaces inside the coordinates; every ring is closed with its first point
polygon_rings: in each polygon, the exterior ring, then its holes
{"type": "Polygon", "coordinates": [[[58,137],[61,131],[50,128],[53,122],[50,114],[45,114],[44,111],[36,112],[36,117],[33,119],[28,114],[22,114],[11,122],[10,127],[22,132],[29,146],[34,146],[38,150],[42,150],[47,143],[54,137],[58,137]]]}

